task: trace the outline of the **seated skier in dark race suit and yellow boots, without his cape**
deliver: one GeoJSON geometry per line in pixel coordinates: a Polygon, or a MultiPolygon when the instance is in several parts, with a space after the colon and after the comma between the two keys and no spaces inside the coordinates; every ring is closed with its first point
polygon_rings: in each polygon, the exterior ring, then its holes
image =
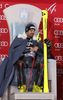
{"type": "MultiPolygon", "coordinates": [[[[27,35],[26,47],[16,63],[17,64],[18,89],[20,92],[26,92],[27,88],[28,88],[28,91],[42,92],[43,43],[41,41],[37,43],[37,41],[33,40],[35,30],[36,29],[35,29],[34,24],[32,23],[27,24],[25,28],[25,32],[27,35]],[[35,61],[33,65],[34,57],[35,57],[35,61]],[[32,75],[30,77],[32,66],[33,66],[33,70],[32,70],[32,75]],[[29,82],[29,78],[30,78],[30,82],[29,82]]],[[[44,41],[48,46],[48,56],[49,56],[49,52],[51,49],[51,42],[49,39],[45,39],[44,41]]]]}

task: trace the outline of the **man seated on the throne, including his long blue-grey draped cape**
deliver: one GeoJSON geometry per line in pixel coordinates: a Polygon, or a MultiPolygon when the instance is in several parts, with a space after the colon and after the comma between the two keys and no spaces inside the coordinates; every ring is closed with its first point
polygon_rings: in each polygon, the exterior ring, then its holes
{"type": "MultiPolygon", "coordinates": [[[[37,43],[36,40],[33,40],[35,30],[34,24],[28,24],[25,28],[27,38],[23,39],[18,35],[12,42],[9,48],[9,57],[5,58],[0,66],[0,97],[9,84],[18,85],[20,92],[26,92],[27,89],[28,91],[42,92],[43,43],[41,41],[37,43]],[[32,67],[33,70],[31,70],[32,67]],[[15,75],[17,75],[17,80],[15,75]]],[[[51,42],[49,39],[45,39],[45,42],[48,45],[49,57],[51,42]]]]}

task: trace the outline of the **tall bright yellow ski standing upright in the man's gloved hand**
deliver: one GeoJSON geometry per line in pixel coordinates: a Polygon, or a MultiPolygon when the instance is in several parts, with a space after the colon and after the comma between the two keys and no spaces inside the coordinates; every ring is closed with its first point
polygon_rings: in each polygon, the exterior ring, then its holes
{"type": "MultiPolygon", "coordinates": [[[[42,19],[43,19],[43,41],[47,38],[47,18],[48,12],[42,10],[42,19]]],[[[48,70],[47,70],[47,45],[44,43],[44,92],[49,92],[48,88],[48,70]]]]}

